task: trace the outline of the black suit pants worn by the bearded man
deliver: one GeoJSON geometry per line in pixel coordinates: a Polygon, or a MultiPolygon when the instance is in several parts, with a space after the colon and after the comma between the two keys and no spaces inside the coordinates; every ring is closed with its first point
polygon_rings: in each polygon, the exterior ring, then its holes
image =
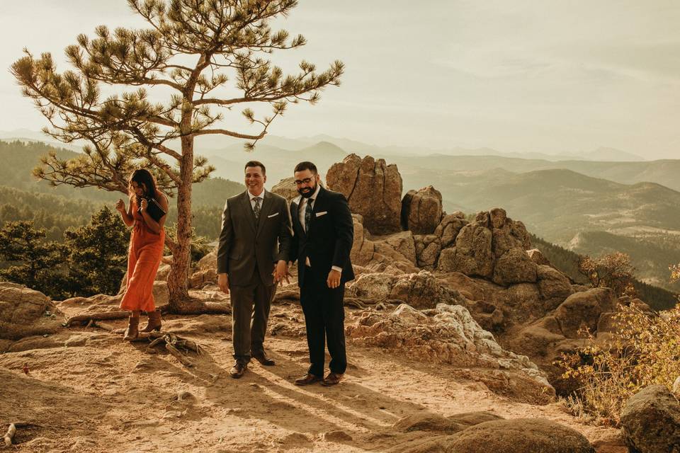
{"type": "Polygon", "coordinates": [[[305,269],[305,282],[300,288],[300,304],[305,314],[307,345],[310,348],[310,369],[314,376],[324,375],[325,344],[331,355],[331,372],[344,373],[347,368],[345,351],[345,285],[331,289],[326,284],[328,274],[317,275],[313,268],[305,269]]]}

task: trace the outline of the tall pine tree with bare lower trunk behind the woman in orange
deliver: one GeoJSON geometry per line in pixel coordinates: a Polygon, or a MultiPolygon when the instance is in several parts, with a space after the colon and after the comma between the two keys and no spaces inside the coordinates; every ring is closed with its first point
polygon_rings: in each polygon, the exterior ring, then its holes
{"type": "Polygon", "coordinates": [[[45,156],[35,175],[54,185],[127,193],[125,181],[132,169],[152,167],[159,188],[176,191],[177,196],[177,235],[168,241],[173,255],[170,310],[224,311],[188,297],[191,185],[214,170],[195,156],[194,138],[224,134],[248,139],[246,147],[254,147],[288,103],[315,103],[322,88],[338,85],[343,64],[336,61],[317,73],[313,64],[302,61],[299,73],[284,75],[266,58],[274,50],[305,44],[301,35],[290,39],[285,30],[273,31],[268,25],[286,16],[297,5],[295,0],[128,4],[149,28],[111,31],[101,25],[95,39],[79,35],[77,45],[66,49],[74,70],[59,73],[50,54],[36,58],[28,50],[12,65],[23,93],[50,123],[45,132],[62,142],[88,142],[85,153],[75,159],[45,156]],[[111,92],[115,94],[104,94],[111,92]],[[157,96],[166,102],[153,102],[157,96]],[[272,113],[242,110],[255,133],[222,127],[224,113],[239,105],[268,105],[272,113]],[[174,145],[177,140],[179,147],[174,145]]]}

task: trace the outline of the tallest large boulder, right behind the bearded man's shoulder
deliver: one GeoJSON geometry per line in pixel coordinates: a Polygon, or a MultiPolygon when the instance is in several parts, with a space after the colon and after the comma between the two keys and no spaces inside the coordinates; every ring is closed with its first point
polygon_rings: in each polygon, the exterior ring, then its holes
{"type": "Polygon", "coordinates": [[[361,214],[363,225],[373,234],[401,231],[402,176],[396,165],[350,154],[329,168],[326,182],[345,195],[351,212],[361,214]]]}

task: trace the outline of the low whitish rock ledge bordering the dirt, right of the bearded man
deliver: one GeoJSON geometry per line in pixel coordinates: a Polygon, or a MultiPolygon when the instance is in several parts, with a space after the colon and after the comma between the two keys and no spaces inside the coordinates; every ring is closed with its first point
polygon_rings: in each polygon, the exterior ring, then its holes
{"type": "Polygon", "coordinates": [[[547,403],[554,389],[527,357],[501,348],[460,305],[418,311],[401,304],[390,314],[366,311],[346,327],[352,343],[399,350],[414,360],[463,367],[467,377],[520,401],[547,403]]]}

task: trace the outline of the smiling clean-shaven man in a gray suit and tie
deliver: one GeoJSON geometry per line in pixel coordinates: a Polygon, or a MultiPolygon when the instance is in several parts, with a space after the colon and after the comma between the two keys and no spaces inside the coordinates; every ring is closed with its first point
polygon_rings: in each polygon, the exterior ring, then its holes
{"type": "Polygon", "coordinates": [[[217,248],[217,285],[231,291],[234,378],[243,376],[251,357],[274,365],[264,335],[276,283],[288,275],[292,239],[288,203],[264,190],[264,165],[249,161],[244,173],[246,191],[227,199],[217,248]]]}

